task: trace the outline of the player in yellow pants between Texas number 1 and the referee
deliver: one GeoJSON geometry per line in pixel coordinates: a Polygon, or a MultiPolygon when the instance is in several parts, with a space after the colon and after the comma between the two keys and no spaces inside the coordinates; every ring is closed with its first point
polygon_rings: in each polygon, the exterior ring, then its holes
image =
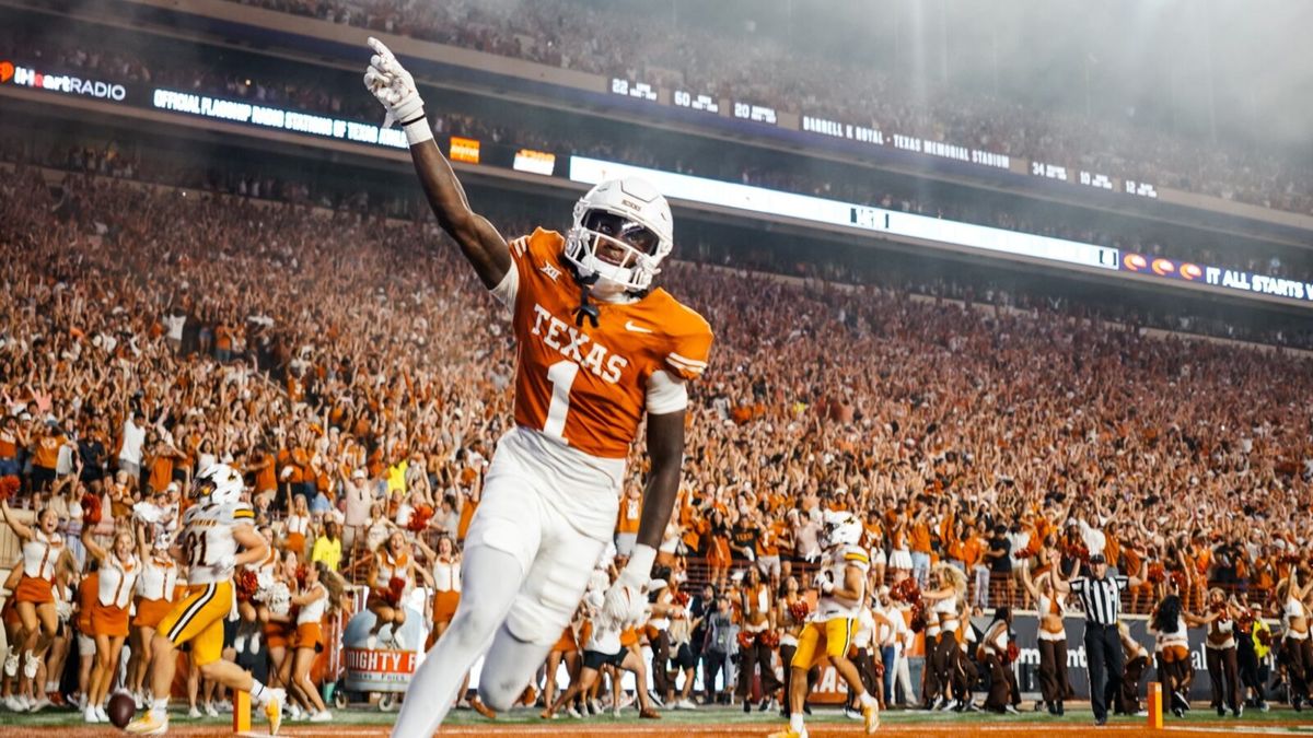
{"type": "Polygon", "coordinates": [[[822,657],[829,657],[839,676],[848,683],[848,691],[857,696],[857,706],[865,721],[867,733],[880,727],[880,701],[861,684],[861,674],[848,661],[852,637],[857,633],[857,619],[867,607],[867,571],[871,557],[857,545],[861,540],[861,520],[851,512],[826,512],[822,544],[826,546],[821,571],[813,586],[821,591],[815,613],[798,636],[789,668],[789,727],[772,733],[771,738],[806,738],[802,706],[807,699],[807,671],[822,657]]]}

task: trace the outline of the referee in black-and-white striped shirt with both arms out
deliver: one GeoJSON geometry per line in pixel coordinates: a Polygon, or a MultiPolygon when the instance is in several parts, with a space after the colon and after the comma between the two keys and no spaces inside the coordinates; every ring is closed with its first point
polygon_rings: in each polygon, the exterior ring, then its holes
{"type": "Polygon", "coordinates": [[[1117,634],[1121,592],[1140,584],[1138,576],[1108,576],[1108,562],[1102,553],[1090,557],[1088,576],[1054,582],[1058,592],[1075,592],[1085,607],[1085,655],[1090,663],[1090,706],[1096,726],[1108,724],[1108,703],[1121,689],[1125,668],[1117,634]]]}

